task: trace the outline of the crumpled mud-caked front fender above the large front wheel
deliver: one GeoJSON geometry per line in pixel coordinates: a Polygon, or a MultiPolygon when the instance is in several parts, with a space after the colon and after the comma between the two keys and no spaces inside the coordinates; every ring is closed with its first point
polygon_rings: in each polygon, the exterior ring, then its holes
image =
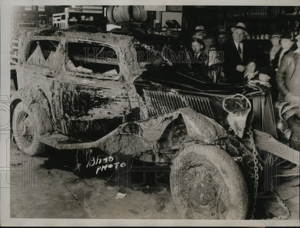
{"type": "Polygon", "coordinates": [[[196,140],[210,144],[228,135],[215,120],[190,108],[182,108],[150,119],[125,123],[95,142],[74,144],[72,147],[77,149],[94,147],[109,154],[119,151],[121,154],[129,155],[154,150],[156,141],[164,130],[180,115],[187,128],[186,141],[196,140]]]}

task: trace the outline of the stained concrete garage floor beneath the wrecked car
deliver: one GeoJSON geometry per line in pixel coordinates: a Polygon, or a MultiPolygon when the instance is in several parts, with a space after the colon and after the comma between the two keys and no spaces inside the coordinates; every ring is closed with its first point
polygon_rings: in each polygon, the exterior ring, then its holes
{"type": "MultiPolygon", "coordinates": [[[[11,188],[11,218],[180,218],[172,198],[161,197],[162,193],[168,192],[167,188],[152,189],[153,181],[147,181],[143,185],[144,189],[119,191],[127,194],[125,198],[107,197],[107,194],[110,193],[112,193],[111,196],[116,195],[114,178],[77,175],[72,170],[75,161],[74,153],[68,153],[65,151],[50,152],[47,153],[48,155],[34,158],[36,169],[35,186],[33,187],[36,193],[34,195],[43,196],[40,194],[42,193],[44,197],[17,197],[22,196],[22,194],[23,196],[32,194],[32,191],[29,193],[26,190],[21,191],[20,187],[11,188]],[[63,156],[62,153],[64,153],[63,156]],[[16,195],[12,196],[12,194],[16,195]],[[139,194],[139,197],[131,197],[136,196],[135,194],[139,194]]],[[[11,152],[10,166],[15,167],[15,171],[10,172],[10,183],[19,186],[22,186],[21,159],[20,155],[11,152]]],[[[158,181],[162,184],[168,182],[163,177],[158,181]]],[[[141,182],[143,182],[143,178],[139,179],[137,183],[141,182]]],[[[282,199],[289,208],[291,214],[289,219],[298,220],[299,185],[295,187],[281,186],[280,192],[282,199]],[[288,195],[283,195],[284,193],[288,195]]],[[[263,208],[260,211],[265,213],[256,213],[254,218],[266,219],[285,214],[276,198],[270,197],[272,196],[270,194],[268,193],[264,198],[257,200],[256,208],[263,208]]]]}

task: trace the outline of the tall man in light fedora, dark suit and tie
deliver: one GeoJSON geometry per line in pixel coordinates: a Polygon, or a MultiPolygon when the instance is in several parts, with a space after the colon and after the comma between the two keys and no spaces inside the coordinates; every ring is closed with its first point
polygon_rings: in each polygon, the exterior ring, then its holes
{"type": "Polygon", "coordinates": [[[253,57],[251,48],[244,43],[248,35],[244,23],[231,28],[233,39],[224,47],[224,72],[229,83],[243,83],[247,61],[253,57]]]}

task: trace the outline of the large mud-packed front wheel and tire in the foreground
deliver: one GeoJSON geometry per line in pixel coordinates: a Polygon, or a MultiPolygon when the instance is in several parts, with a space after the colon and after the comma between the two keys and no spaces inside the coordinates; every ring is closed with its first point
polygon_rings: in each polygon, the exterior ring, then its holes
{"type": "Polygon", "coordinates": [[[215,146],[194,145],[171,166],[170,188],[182,219],[245,219],[247,185],[235,161],[215,146]],[[183,160],[184,158],[184,160],[183,160]]]}

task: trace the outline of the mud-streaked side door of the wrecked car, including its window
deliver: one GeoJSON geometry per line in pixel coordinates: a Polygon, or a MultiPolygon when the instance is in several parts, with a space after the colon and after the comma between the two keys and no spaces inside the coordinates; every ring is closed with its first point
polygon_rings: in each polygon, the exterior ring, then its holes
{"type": "Polygon", "coordinates": [[[51,85],[55,123],[63,134],[97,140],[125,121],[128,95],[108,44],[66,40],[65,73],[51,85]]]}

